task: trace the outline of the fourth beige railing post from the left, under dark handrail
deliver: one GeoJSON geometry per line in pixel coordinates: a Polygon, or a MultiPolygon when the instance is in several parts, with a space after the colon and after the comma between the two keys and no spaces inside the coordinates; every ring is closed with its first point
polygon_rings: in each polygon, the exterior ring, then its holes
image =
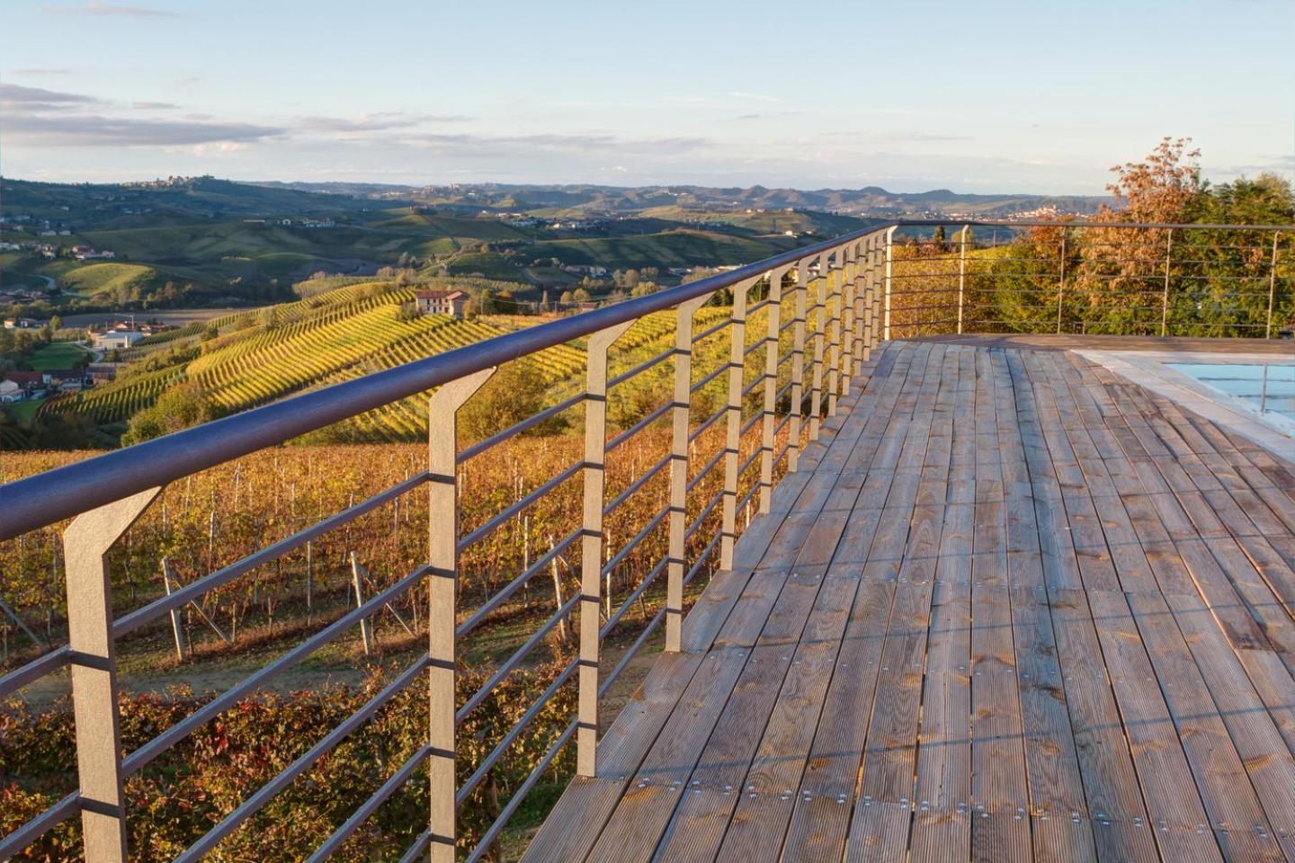
{"type": "Polygon", "coordinates": [[[688,435],[693,406],[693,313],[706,294],[675,309],[675,406],[670,455],[670,563],[666,564],[666,650],[679,651],[684,622],[684,533],[688,523],[688,435]]]}

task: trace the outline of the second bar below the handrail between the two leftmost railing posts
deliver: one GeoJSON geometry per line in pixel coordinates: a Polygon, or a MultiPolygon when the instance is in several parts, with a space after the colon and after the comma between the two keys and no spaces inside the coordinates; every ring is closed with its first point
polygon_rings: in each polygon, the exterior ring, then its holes
{"type": "Polygon", "coordinates": [[[278,659],[276,659],[269,665],[254,672],[253,674],[245,677],[241,682],[233,687],[225,690],[211,701],[190,713],[184,719],[180,719],[174,726],[153,737],[142,747],[126,756],[122,759],[122,776],[131,776],[139,770],[141,770],[150,761],[161,756],[163,752],[174,747],[176,743],[193,734],[199,726],[210,722],[215,717],[220,716],[234,704],[238,703],[246,695],[255,692],[260,686],[271,681],[276,674],[297,665],[303,659],[317,651],[324,644],[328,644],[334,638],[344,633],[351,626],[359,624],[363,618],[368,617],[373,612],[378,611],[383,606],[394,602],[404,591],[409,590],[416,582],[427,577],[431,568],[427,565],[418,567],[408,576],[391,585],[382,593],[374,594],[370,599],[365,600],[357,608],[351,609],[342,617],[321,629],[320,631],[311,635],[304,642],[287,651],[278,659]]]}

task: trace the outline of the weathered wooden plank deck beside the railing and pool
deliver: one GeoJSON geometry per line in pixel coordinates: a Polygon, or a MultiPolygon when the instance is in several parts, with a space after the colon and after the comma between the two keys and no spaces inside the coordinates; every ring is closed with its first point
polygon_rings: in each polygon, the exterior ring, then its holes
{"type": "Polygon", "coordinates": [[[1295,467],[1070,347],[881,352],[524,859],[1295,862],[1295,467]]]}

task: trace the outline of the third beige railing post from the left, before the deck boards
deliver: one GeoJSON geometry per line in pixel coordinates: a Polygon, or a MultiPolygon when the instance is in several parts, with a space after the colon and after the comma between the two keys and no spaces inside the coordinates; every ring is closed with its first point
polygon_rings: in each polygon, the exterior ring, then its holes
{"type": "Polygon", "coordinates": [[[580,556],[580,705],[576,719],[576,766],[597,775],[598,758],[598,607],[602,593],[602,507],[607,458],[607,348],[633,321],[589,336],[584,389],[584,520],[580,556]]]}

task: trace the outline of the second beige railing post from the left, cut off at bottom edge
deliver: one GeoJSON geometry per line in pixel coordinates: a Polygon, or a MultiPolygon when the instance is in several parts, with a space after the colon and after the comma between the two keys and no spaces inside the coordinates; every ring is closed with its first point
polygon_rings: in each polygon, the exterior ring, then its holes
{"type": "Polygon", "coordinates": [[[458,593],[458,409],[495,369],[451,380],[427,401],[427,757],[431,863],[453,863],[457,840],[455,793],[455,612],[458,593]]]}

